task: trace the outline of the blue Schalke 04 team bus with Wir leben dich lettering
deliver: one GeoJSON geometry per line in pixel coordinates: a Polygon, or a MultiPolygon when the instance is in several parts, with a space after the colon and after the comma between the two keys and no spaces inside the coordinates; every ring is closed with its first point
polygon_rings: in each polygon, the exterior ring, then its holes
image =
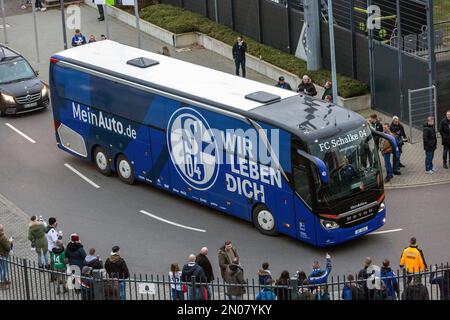
{"type": "Polygon", "coordinates": [[[50,60],[58,147],[104,175],[316,246],[385,223],[374,135],[395,140],[352,111],[110,40],[50,60]]]}

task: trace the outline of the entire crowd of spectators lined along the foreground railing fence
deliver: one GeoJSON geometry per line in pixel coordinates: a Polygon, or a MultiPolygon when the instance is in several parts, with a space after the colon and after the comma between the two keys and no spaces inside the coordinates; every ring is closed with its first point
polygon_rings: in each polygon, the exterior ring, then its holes
{"type": "MultiPolygon", "coordinates": [[[[125,260],[121,257],[119,246],[113,246],[109,257],[103,263],[95,248],[86,253],[80,237],[73,233],[64,245],[63,234],[57,231],[58,223],[51,217],[46,223],[42,217],[32,216],[28,227],[28,239],[36,252],[37,265],[42,271],[51,272],[50,281],[55,282],[57,293],[74,289],[83,300],[93,299],[93,274],[99,272],[105,280],[105,290],[110,299],[126,299],[126,282],[130,278],[125,260]],[[68,288],[67,277],[72,274],[74,286],[68,288]],[[75,285],[79,282],[79,286],[75,285]]],[[[13,248],[13,239],[8,239],[3,225],[0,225],[0,289],[10,286],[8,280],[8,257],[13,248]]],[[[254,273],[257,277],[258,292],[255,300],[330,300],[328,278],[332,271],[331,256],[326,254],[325,267],[319,261],[312,263],[311,270],[297,270],[291,276],[288,270],[275,278],[268,262],[262,263],[261,269],[254,273]],[[295,287],[293,283],[296,283],[295,287]],[[294,289],[296,288],[296,289],[294,289]]],[[[168,284],[173,300],[208,300],[212,298],[215,283],[223,281],[222,287],[229,300],[242,300],[248,282],[244,275],[244,266],[238,250],[231,241],[226,241],[217,251],[220,275],[214,274],[209,259],[208,248],[203,247],[198,254],[190,254],[186,264],[181,268],[177,262],[170,265],[168,284]],[[218,278],[218,279],[217,279],[218,278]],[[214,282],[216,280],[216,282],[214,282]],[[214,288],[213,288],[214,287],[214,288]]],[[[384,259],[378,269],[370,257],[364,259],[363,268],[356,276],[349,274],[340,292],[342,300],[427,300],[430,298],[428,288],[423,283],[423,272],[429,270],[422,250],[415,238],[401,254],[399,266],[405,271],[404,289],[400,295],[399,276],[392,270],[390,261],[384,259]],[[374,275],[378,282],[370,282],[374,275]],[[374,285],[370,285],[373,283],[374,285]]],[[[439,286],[440,299],[450,300],[450,270],[439,274],[436,267],[431,267],[430,284],[439,286]]]]}

